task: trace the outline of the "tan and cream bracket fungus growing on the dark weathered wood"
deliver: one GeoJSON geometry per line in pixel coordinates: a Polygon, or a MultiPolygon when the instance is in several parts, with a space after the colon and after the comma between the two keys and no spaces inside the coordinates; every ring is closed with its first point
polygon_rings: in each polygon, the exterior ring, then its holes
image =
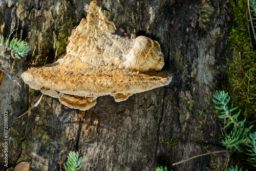
{"type": "Polygon", "coordinates": [[[160,71],[163,65],[157,41],[116,34],[115,25],[103,15],[97,1],[92,1],[87,18],[72,31],[66,55],[51,65],[24,72],[22,78],[32,89],[84,111],[99,96],[111,95],[120,102],[166,86],[172,76],[160,71]]]}

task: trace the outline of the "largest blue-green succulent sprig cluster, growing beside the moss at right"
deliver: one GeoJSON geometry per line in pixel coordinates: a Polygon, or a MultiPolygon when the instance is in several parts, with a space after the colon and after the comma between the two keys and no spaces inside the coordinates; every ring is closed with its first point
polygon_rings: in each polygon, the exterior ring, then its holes
{"type": "MultiPolygon", "coordinates": [[[[239,144],[245,144],[247,146],[246,151],[249,152],[246,153],[249,156],[247,161],[251,162],[251,164],[256,167],[256,132],[252,129],[253,125],[245,127],[246,118],[241,121],[238,120],[240,111],[237,113],[233,112],[238,107],[233,107],[233,104],[231,104],[229,109],[228,102],[230,101],[230,97],[228,96],[228,93],[225,93],[224,91],[216,91],[214,97],[217,99],[212,100],[217,104],[215,108],[221,111],[221,115],[218,117],[220,119],[227,119],[225,121],[225,128],[229,127],[229,130],[231,130],[230,133],[226,132],[225,138],[221,143],[226,146],[226,148],[229,148],[230,151],[238,150],[239,152],[243,152],[243,149],[239,144]]],[[[238,168],[237,166],[232,168],[230,167],[229,170],[237,171],[238,168]]]]}

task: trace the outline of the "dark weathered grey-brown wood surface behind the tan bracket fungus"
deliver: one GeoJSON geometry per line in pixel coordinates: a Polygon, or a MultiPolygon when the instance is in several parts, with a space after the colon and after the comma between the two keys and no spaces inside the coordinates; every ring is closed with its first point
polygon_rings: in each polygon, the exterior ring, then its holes
{"type": "MultiPolygon", "coordinates": [[[[64,52],[71,30],[86,17],[90,1],[2,0],[1,37],[17,29],[12,37],[25,39],[31,48],[26,59],[20,60],[0,51],[2,67],[22,85],[20,88],[7,76],[0,84],[0,113],[9,114],[8,166],[28,161],[34,171],[60,170],[70,150],[80,153],[82,170],[155,170],[159,165],[167,165],[168,170],[207,170],[223,166],[225,155],[171,165],[205,149],[222,149],[217,139],[219,121],[210,110],[208,97],[215,92],[212,83],[223,79],[223,53],[232,19],[226,1],[210,2],[99,1],[117,28],[161,44],[164,70],[172,73],[173,81],[119,103],[111,96],[99,97],[86,112],[44,96],[36,108],[14,120],[41,95],[29,89],[20,75],[29,67],[53,62],[64,52]],[[169,147],[161,139],[177,142],[169,147]]],[[[0,123],[3,125],[3,117],[0,123]]],[[[2,162],[3,129],[0,126],[0,170],[7,169],[2,162]]]]}

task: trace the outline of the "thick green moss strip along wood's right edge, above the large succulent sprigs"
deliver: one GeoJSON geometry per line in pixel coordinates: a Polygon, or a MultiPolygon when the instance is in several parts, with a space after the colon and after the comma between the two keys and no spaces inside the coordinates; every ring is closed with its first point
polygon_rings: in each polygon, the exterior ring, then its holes
{"type": "MultiPolygon", "coordinates": [[[[249,33],[246,19],[246,0],[238,0],[236,3],[231,2],[233,7],[234,24],[229,35],[231,43],[230,49],[233,51],[232,59],[227,61],[226,76],[227,80],[222,86],[230,95],[234,106],[238,106],[243,117],[247,117],[247,121],[253,121],[256,117],[256,88],[251,81],[256,82],[256,70],[252,69],[250,73],[250,81],[245,77],[241,69],[239,52],[242,58],[242,67],[245,72],[255,66],[252,59],[252,47],[250,45],[249,33]]],[[[254,54],[255,55],[255,54],[254,54]]],[[[256,55],[255,55],[256,56],[256,55]]],[[[242,116],[242,115],[241,115],[242,116]]]]}

